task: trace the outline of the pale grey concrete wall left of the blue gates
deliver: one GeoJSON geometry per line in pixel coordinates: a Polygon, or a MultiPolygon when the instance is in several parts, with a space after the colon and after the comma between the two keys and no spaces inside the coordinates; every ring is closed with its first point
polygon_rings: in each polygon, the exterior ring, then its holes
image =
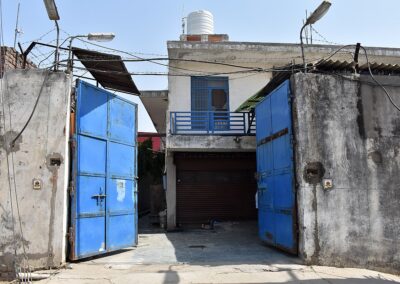
{"type": "Polygon", "coordinates": [[[71,81],[61,72],[10,70],[1,84],[0,272],[12,270],[14,260],[18,265],[24,256],[33,268],[57,267],[65,261],[71,81]],[[41,89],[30,123],[10,146],[41,89]]]}

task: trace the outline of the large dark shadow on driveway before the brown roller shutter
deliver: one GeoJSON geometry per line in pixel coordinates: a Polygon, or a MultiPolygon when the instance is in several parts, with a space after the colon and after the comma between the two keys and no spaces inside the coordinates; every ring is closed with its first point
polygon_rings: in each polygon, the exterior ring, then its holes
{"type": "Polygon", "coordinates": [[[267,247],[258,238],[257,222],[216,223],[214,229],[167,233],[178,262],[207,265],[294,264],[296,257],[267,247]]]}

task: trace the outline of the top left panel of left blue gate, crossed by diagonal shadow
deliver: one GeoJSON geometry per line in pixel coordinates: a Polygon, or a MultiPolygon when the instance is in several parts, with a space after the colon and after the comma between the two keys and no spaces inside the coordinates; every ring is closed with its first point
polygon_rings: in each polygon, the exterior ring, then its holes
{"type": "Polygon", "coordinates": [[[108,95],[90,85],[82,84],[78,93],[79,133],[107,137],[107,100],[108,95]],[[79,94],[80,93],[80,94],[79,94]],[[82,93],[90,95],[81,95],[82,93]]]}

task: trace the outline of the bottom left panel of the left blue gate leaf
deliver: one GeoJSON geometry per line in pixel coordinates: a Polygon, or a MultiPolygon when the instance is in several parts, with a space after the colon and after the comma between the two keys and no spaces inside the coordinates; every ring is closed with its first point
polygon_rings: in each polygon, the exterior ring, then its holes
{"type": "Polygon", "coordinates": [[[75,226],[76,256],[91,256],[105,252],[104,214],[98,217],[81,217],[75,226]]]}

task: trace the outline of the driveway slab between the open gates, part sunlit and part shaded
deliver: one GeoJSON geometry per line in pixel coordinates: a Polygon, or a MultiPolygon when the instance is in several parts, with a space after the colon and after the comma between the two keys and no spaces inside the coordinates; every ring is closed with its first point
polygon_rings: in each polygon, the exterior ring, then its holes
{"type": "Polygon", "coordinates": [[[214,229],[166,233],[140,220],[139,243],[131,251],[96,258],[95,263],[119,264],[300,264],[296,257],[264,245],[257,222],[216,223],[214,229]],[[143,224],[144,223],[144,224],[143,224]]]}

